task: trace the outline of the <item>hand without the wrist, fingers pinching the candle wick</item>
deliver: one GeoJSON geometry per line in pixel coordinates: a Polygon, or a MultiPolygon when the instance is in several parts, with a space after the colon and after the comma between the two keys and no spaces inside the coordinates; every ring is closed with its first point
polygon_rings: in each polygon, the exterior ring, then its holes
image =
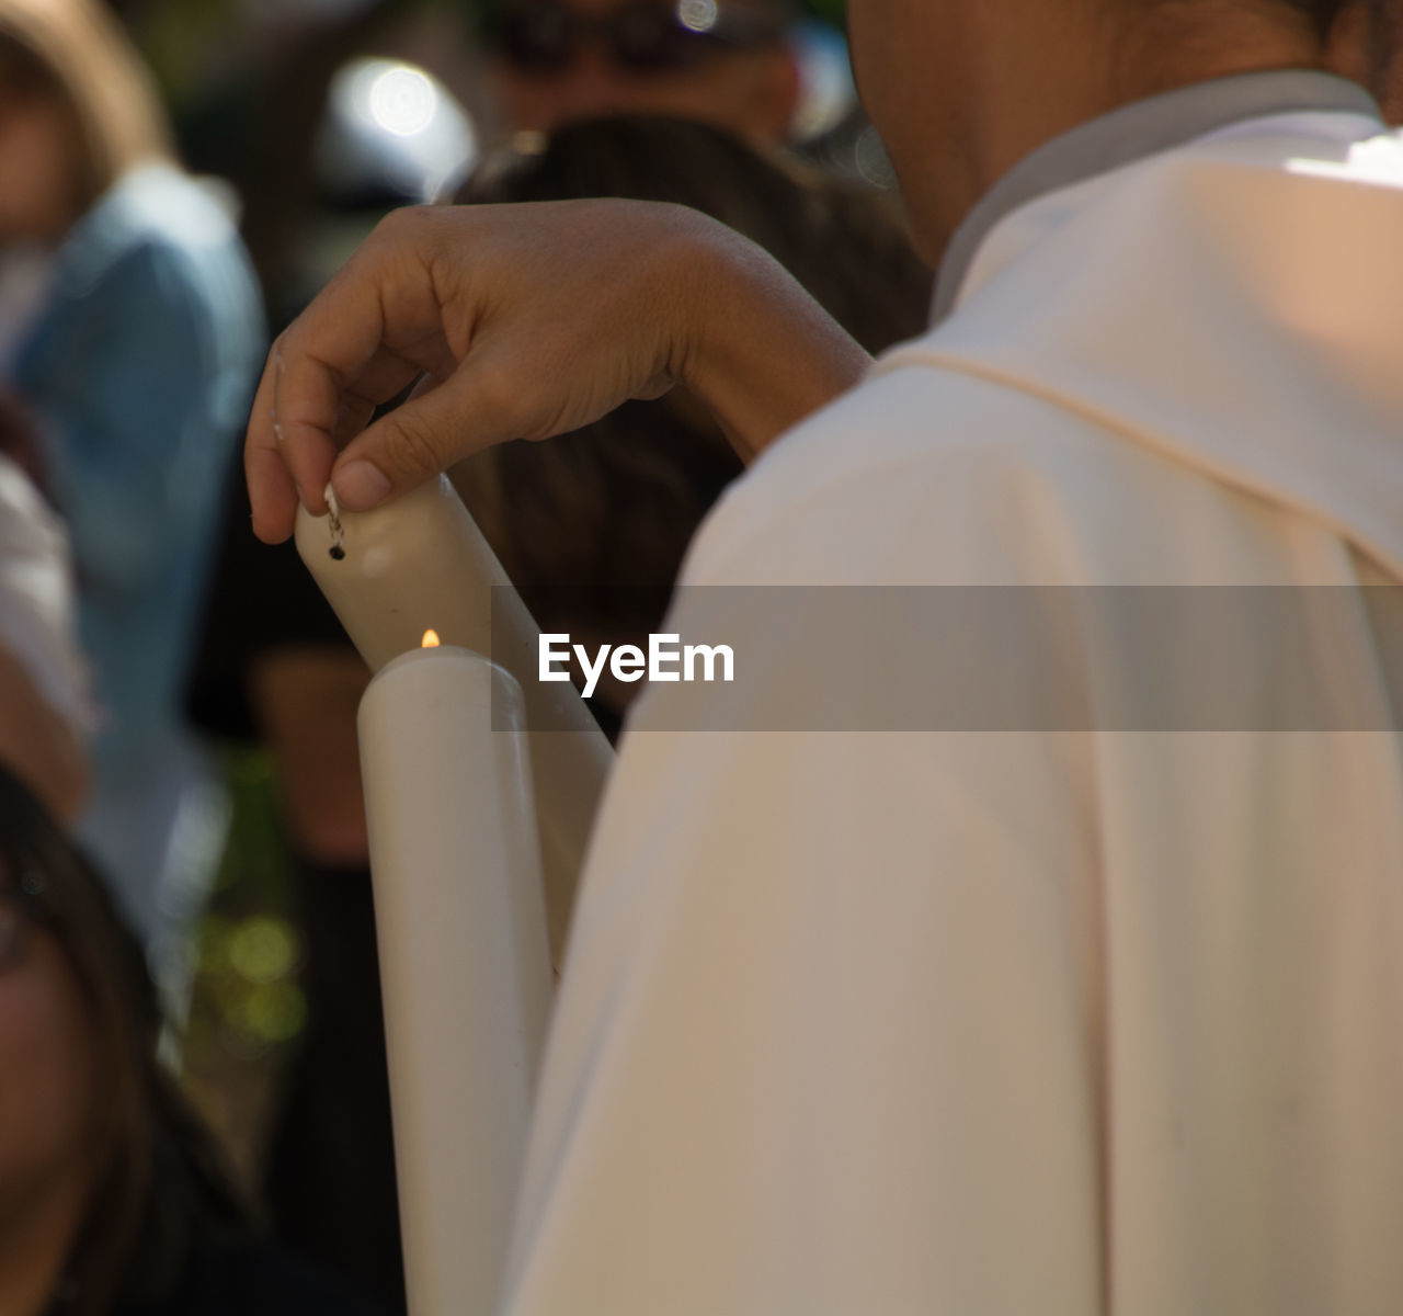
{"type": "Polygon", "coordinates": [[[658,396],[696,337],[678,307],[696,283],[682,272],[716,246],[689,236],[697,222],[643,202],[390,216],[264,376],[246,452],[257,533],[285,539],[299,491],[321,512],[328,478],[363,511],[491,443],[658,396]],[[434,386],[361,431],[417,373],[434,386]]]}

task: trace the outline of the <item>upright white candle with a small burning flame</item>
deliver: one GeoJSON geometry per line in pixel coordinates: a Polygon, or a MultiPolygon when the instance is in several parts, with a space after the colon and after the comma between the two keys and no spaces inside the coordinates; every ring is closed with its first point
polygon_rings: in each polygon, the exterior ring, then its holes
{"type": "Polygon", "coordinates": [[[359,713],[414,1316],[492,1310],[551,976],[521,687],[462,648],[359,713]]]}

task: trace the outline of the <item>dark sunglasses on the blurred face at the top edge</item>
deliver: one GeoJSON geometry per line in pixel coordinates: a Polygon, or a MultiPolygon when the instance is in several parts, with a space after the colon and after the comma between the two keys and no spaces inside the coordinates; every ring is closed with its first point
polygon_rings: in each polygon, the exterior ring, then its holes
{"type": "Polygon", "coordinates": [[[558,73],[584,42],[595,42],[624,73],[685,69],[725,48],[759,46],[779,38],[772,17],[717,0],[641,0],[603,18],[586,18],[556,0],[509,4],[488,42],[523,73],[558,73]]]}

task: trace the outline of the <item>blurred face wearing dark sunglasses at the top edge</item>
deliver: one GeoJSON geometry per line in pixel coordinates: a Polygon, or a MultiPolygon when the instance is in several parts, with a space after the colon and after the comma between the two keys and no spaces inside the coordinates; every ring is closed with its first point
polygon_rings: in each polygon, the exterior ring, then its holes
{"type": "Polygon", "coordinates": [[[800,100],[787,0],[492,0],[481,39],[518,132],[669,114],[783,142],[800,100]]]}

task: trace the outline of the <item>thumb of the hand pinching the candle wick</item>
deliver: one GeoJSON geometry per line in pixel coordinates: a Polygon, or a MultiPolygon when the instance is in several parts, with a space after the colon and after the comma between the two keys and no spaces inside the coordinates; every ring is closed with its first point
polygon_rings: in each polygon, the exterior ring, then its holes
{"type": "Polygon", "coordinates": [[[366,512],[446,471],[476,446],[459,376],[412,396],[363,429],[337,457],[331,487],[341,506],[366,512]]]}

